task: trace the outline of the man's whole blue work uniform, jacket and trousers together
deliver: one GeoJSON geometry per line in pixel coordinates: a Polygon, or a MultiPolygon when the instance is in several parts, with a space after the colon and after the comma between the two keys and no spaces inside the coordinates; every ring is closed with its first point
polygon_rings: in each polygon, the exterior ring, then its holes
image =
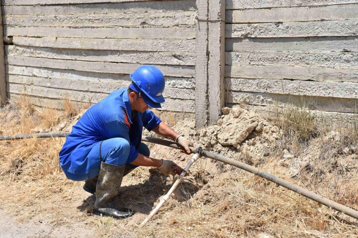
{"type": "Polygon", "coordinates": [[[150,110],[132,115],[127,88],[118,89],[91,106],[73,126],[60,151],[60,166],[69,179],[81,181],[98,175],[101,159],[129,164],[145,150],[143,126],[151,131],[159,123],[150,110]]]}

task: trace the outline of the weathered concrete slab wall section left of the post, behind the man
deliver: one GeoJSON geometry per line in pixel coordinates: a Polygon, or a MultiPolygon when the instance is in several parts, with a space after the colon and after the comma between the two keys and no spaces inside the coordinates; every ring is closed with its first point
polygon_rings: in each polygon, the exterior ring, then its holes
{"type": "Polygon", "coordinates": [[[1,0],[7,95],[61,108],[96,103],[153,64],[162,110],[195,111],[195,0],[1,0]]]}

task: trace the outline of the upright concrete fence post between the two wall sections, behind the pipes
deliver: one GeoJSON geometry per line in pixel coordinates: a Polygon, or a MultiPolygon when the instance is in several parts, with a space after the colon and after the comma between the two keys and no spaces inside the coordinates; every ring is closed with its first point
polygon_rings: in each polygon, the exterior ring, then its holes
{"type": "Polygon", "coordinates": [[[213,124],[224,104],[225,0],[196,0],[195,128],[213,124]]]}

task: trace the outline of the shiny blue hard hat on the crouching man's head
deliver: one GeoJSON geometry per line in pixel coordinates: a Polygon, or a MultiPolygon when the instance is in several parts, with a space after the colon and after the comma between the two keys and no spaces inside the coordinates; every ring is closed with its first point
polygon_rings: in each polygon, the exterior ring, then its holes
{"type": "Polygon", "coordinates": [[[136,92],[143,92],[145,95],[142,94],[142,97],[148,106],[161,107],[160,103],[165,101],[163,97],[165,79],[158,68],[152,65],[143,65],[129,77],[132,79],[129,87],[136,92]]]}

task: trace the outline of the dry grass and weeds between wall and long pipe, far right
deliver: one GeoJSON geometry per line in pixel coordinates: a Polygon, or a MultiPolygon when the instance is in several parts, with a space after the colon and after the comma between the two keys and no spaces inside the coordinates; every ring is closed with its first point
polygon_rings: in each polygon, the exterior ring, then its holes
{"type": "Polygon", "coordinates": [[[349,120],[337,115],[332,121],[304,107],[279,110],[274,121],[284,136],[278,156],[288,149],[299,159],[309,159],[310,165],[297,177],[303,187],[358,210],[358,114],[349,120]]]}

